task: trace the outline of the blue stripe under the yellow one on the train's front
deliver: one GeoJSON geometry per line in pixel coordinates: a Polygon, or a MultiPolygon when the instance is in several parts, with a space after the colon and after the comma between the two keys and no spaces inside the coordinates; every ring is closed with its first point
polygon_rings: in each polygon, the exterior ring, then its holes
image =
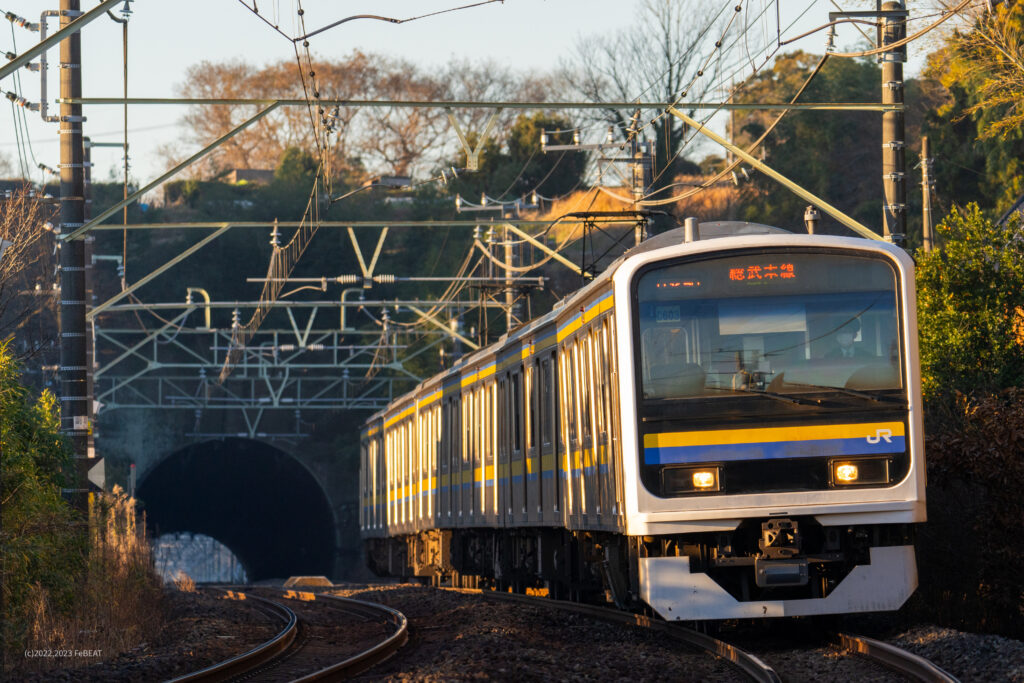
{"type": "Polygon", "coordinates": [[[900,453],[906,450],[904,436],[892,442],[868,443],[863,438],[771,441],[767,443],[722,443],[718,445],[681,445],[644,449],[647,465],[676,463],[731,462],[736,460],[775,460],[779,458],[816,458],[822,456],[869,456],[900,453]]]}

